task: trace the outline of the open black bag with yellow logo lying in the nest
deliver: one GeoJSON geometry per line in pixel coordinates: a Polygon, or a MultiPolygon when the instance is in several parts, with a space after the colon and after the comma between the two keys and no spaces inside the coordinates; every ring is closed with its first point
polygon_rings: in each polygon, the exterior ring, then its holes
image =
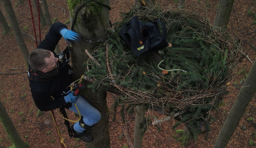
{"type": "Polygon", "coordinates": [[[139,21],[137,15],[133,16],[119,31],[119,35],[137,56],[167,47],[169,44],[166,42],[166,33],[166,27],[161,21],[143,23],[139,21]],[[162,25],[162,35],[158,23],[162,25]]]}

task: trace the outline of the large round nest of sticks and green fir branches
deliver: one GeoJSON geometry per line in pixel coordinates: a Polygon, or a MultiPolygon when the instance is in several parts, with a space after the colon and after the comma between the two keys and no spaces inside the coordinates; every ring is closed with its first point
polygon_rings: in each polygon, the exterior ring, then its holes
{"type": "Polygon", "coordinates": [[[224,30],[214,30],[202,16],[179,10],[159,10],[156,6],[134,6],[115,23],[107,44],[92,53],[85,75],[96,81],[89,87],[114,86],[122,93],[120,104],[146,104],[170,113],[188,106],[212,106],[226,92],[233,67],[240,57],[240,42],[224,30]],[[167,42],[161,69],[182,69],[163,74],[146,53],[140,57],[118,35],[119,29],[134,15],[145,23],[160,18],[165,24],[167,42]]]}

